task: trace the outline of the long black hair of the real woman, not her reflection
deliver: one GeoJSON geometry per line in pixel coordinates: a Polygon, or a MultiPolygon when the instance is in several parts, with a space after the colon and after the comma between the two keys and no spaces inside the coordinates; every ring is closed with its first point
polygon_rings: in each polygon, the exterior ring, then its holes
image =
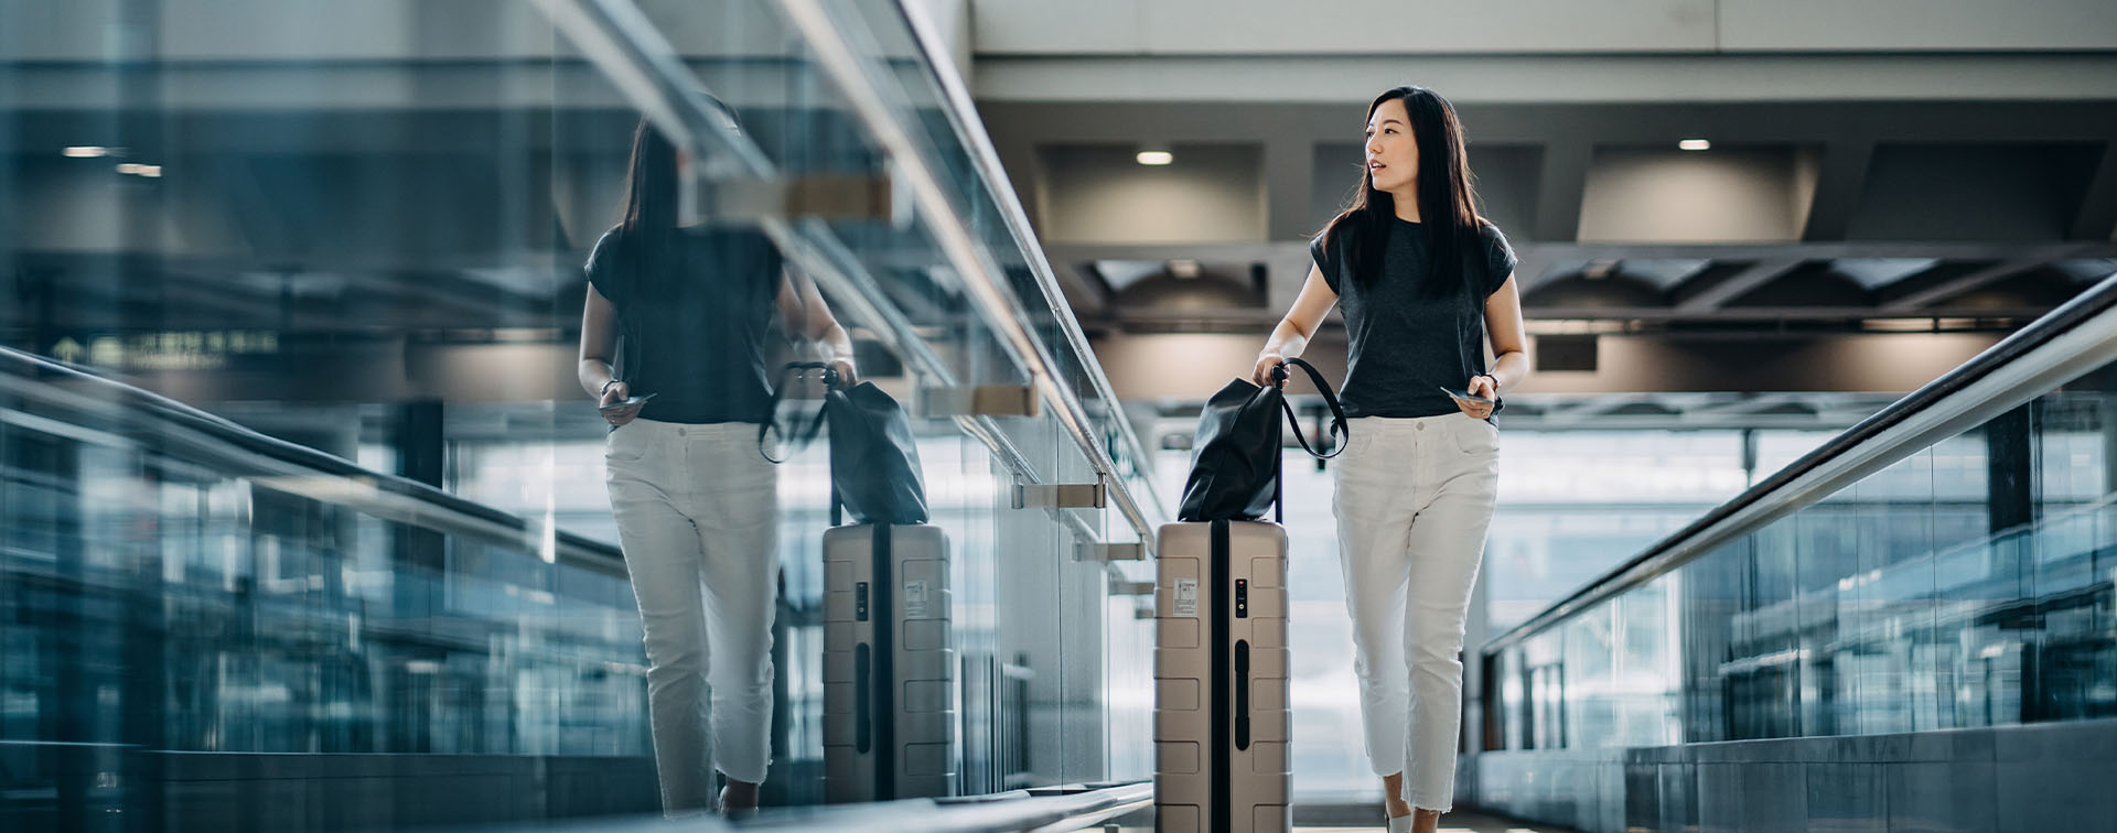
{"type": "MultiPolygon", "coordinates": [[[[1412,118],[1412,142],[1418,148],[1418,222],[1427,233],[1427,273],[1418,275],[1421,294],[1446,296],[1454,281],[1469,281],[1463,269],[1465,252],[1478,249],[1480,224],[1476,186],[1469,175],[1469,154],[1463,150],[1463,123],[1454,106],[1425,87],[1395,87],[1374,97],[1368,118],[1382,104],[1401,99],[1412,118]]],[[[1365,156],[1365,150],[1361,150],[1365,156]]],[[[1353,207],[1323,226],[1323,245],[1336,245],[1338,235],[1351,235],[1353,279],[1372,288],[1382,273],[1382,247],[1389,245],[1389,224],[1397,201],[1374,188],[1368,165],[1359,167],[1359,195],[1353,207]]]]}

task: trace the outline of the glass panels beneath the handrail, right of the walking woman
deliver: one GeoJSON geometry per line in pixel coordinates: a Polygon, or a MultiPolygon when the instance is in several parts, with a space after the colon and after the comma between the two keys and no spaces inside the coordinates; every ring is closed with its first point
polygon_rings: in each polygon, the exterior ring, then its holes
{"type": "Polygon", "coordinates": [[[2117,715],[2111,370],[1499,649],[1490,668],[1514,677],[1492,734],[1653,746],[2117,715]],[[1649,708],[1664,679],[1681,719],[1649,708]]]}

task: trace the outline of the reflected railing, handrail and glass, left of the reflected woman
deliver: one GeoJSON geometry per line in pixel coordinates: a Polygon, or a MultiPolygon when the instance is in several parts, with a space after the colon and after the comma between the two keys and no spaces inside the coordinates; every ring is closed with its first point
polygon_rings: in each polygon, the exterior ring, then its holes
{"type": "Polygon", "coordinates": [[[616,548],[17,351],[0,490],[0,738],[648,753],[616,548]]]}

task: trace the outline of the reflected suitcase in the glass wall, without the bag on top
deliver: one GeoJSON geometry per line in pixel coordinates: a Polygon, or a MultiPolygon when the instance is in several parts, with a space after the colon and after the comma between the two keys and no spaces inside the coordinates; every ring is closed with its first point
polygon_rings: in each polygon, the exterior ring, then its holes
{"type": "Polygon", "coordinates": [[[824,799],[953,795],[948,537],[927,524],[824,533],[824,799]]]}

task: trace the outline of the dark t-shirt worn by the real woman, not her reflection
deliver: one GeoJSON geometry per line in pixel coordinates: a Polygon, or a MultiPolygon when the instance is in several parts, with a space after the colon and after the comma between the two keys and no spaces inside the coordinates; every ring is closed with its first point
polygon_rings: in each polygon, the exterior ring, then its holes
{"type": "Polygon", "coordinates": [[[1454,400],[1440,387],[1465,387],[1484,372],[1484,300],[1514,275],[1514,247],[1499,226],[1480,228],[1480,247],[1463,252],[1459,269],[1431,277],[1450,281],[1444,296],[1425,296],[1427,233],[1421,224],[1391,218],[1382,247],[1382,275],[1368,288],[1353,279],[1349,230],[1323,245],[1308,243],[1323,279],[1338,292],[1351,351],[1338,397],[1346,417],[1440,417],[1454,414],[1454,400]],[[1469,271],[1469,279],[1463,279],[1469,271]]]}

